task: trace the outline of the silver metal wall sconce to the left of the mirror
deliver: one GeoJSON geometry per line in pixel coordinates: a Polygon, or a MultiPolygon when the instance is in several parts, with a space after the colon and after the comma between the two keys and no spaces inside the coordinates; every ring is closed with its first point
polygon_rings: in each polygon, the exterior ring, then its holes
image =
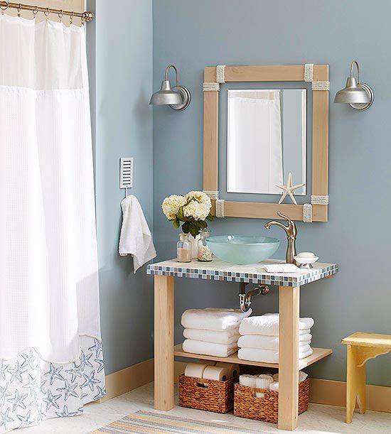
{"type": "Polygon", "coordinates": [[[149,104],[153,105],[168,105],[174,110],[187,109],[191,102],[191,94],[187,87],[179,85],[178,70],[174,65],[168,65],[166,72],[164,73],[164,80],[161,82],[161,88],[158,92],[152,94],[149,104]],[[171,83],[168,80],[168,70],[170,68],[176,73],[176,85],[171,87],[171,83]]]}

